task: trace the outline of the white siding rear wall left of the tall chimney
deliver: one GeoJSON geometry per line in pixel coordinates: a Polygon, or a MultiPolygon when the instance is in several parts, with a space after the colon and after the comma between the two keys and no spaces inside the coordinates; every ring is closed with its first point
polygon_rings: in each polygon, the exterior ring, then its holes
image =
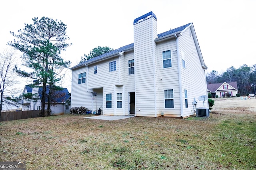
{"type": "Polygon", "coordinates": [[[88,68],[84,66],[73,70],[71,107],[84,106],[92,111],[98,111],[100,108],[104,115],[128,115],[128,92],[135,91],[134,74],[128,75],[130,59],[134,59],[133,51],[125,52],[113,59],[89,64],[88,68]],[[116,71],[109,72],[109,63],[112,61],[116,61],[116,71]],[[97,74],[94,74],[94,66],[98,67],[97,74]],[[78,74],[82,72],[86,72],[86,83],[78,84],[78,74]],[[92,97],[91,92],[97,92],[97,97],[92,97]],[[116,93],[122,93],[122,108],[116,106],[116,93]],[[106,108],[106,94],[112,94],[112,108],[106,108]]]}

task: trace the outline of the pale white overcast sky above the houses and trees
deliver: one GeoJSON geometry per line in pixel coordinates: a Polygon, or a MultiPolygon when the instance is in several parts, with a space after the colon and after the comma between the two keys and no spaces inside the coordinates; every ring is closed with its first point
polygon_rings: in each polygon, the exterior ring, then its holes
{"type": "MultiPolygon", "coordinates": [[[[194,24],[207,72],[256,64],[256,0],[3,0],[0,52],[14,39],[10,31],[45,16],[67,24],[72,45],[62,57],[74,66],[95,47],[133,43],[134,19],[150,11],[156,14],[158,34],[194,24]]],[[[71,78],[66,81],[71,92],[71,78]]]]}

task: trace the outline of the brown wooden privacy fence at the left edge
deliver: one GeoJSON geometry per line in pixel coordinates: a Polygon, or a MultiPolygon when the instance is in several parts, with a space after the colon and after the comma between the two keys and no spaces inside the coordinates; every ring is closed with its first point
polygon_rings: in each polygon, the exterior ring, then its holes
{"type": "Polygon", "coordinates": [[[10,120],[38,117],[39,113],[40,113],[40,110],[2,112],[0,121],[10,121],[10,120]]]}

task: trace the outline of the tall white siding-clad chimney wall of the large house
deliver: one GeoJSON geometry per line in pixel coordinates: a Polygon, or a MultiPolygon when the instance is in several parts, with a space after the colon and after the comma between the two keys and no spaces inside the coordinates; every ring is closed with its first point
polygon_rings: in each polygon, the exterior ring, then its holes
{"type": "Polygon", "coordinates": [[[155,116],[156,20],[149,18],[134,25],[136,115],[155,116]]]}

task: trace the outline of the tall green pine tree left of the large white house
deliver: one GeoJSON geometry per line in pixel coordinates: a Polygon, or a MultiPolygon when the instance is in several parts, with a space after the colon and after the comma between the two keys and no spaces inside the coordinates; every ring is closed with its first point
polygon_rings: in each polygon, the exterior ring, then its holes
{"type": "MultiPolygon", "coordinates": [[[[8,45],[21,51],[24,66],[31,71],[20,70],[16,67],[16,72],[20,76],[25,76],[39,80],[42,85],[41,113],[45,114],[46,86],[53,86],[60,81],[58,70],[68,68],[70,61],[64,61],[60,57],[60,52],[65,51],[70,45],[69,37],[66,35],[66,24],[62,21],[54,20],[48,17],[33,18],[33,24],[26,24],[25,28],[20,29],[18,34],[11,34],[15,37],[14,41],[8,42],[8,45]]],[[[48,100],[49,101],[49,100],[48,100]]],[[[48,107],[50,107],[48,105],[48,107]]],[[[48,115],[50,115],[50,108],[48,115]]]]}

